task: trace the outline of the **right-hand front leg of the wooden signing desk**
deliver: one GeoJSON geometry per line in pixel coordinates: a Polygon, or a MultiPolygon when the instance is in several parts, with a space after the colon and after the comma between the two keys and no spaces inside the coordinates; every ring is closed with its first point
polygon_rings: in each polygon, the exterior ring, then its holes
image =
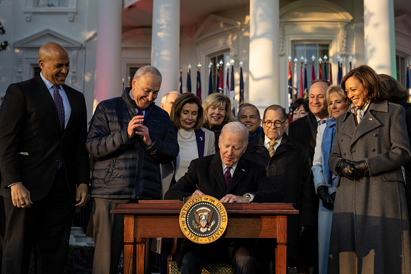
{"type": "Polygon", "coordinates": [[[277,216],[277,246],[275,247],[275,273],[286,274],[287,269],[287,217],[277,216]]]}

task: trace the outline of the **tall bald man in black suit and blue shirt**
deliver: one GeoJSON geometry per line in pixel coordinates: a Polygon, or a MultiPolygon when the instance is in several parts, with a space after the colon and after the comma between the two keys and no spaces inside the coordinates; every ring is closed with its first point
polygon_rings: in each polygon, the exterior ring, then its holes
{"type": "Polygon", "coordinates": [[[10,84],[1,104],[3,273],[28,273],[33,248],[37,273],[63,273],[75,206],[88,197],[86,104],[64,84],[69,64],[62,46],[44,44],[42,73],[10,84]]]}

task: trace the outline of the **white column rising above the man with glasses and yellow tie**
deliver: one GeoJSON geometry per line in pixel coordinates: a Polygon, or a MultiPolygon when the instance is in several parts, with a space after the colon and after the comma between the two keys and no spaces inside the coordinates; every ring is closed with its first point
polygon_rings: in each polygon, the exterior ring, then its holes
{"type": "Polygon", "coordinates": [[[248,98],[260,111],[280,104],[279,32],[279,0],[250,0],[248,98]]]}

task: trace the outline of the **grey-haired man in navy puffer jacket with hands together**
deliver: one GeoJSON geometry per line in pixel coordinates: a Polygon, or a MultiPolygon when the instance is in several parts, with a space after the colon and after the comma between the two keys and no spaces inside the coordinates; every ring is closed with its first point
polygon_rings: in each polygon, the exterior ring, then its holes
{"type": "Polygon", "coordinates": [[[121,97],[95,109],[87,150],[93,157],[93,273],[117,273],[124,216],[110,214],[119,203],[161,199],[160,164],[179,154],[168,113],[154,104],[161,73],[143,66],[121,97]]]}

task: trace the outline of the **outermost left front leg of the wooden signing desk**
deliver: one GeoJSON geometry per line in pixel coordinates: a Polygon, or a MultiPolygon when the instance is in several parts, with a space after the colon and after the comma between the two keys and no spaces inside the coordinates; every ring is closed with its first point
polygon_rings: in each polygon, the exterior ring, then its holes
{"type": "Polygon", "coordinates": [[[133,273],[134,215],[124,217],[124,273],[133,273]]]}

